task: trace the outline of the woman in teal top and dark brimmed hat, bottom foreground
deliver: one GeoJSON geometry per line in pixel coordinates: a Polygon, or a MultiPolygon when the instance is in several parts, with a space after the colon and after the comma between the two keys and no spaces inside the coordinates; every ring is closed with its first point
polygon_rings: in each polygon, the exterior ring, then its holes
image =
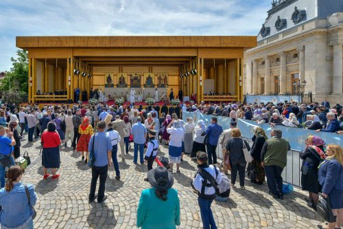
{"type": "Polygon", "coordinates": [[[171,188],[174,177],[163,166],[147,173],[152,188],[142,191],[137,209],[137,227],[142,229],[175,229],[180,225],[178,191],[171,188]]]}

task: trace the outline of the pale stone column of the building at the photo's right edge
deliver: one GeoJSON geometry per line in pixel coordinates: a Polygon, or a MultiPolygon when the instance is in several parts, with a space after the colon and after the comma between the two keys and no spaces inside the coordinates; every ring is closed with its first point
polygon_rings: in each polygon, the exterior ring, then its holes
{"type": "Polygon", "coordinates": [[[333,88],[332,94],[342,94],[343,89],[343,53],[342,41],[334,41],[333,45],[333,88]]]}

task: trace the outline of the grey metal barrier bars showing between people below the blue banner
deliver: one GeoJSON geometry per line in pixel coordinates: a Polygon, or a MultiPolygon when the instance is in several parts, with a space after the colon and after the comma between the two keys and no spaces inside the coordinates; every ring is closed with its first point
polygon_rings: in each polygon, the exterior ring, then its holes
{"type": "MultiPolygon", "coordinates": [[[[252,146],[252,140],[244,138],[252,146]]],[[[222,144],[217,144],[217,149],[215,150],[217,158],[223,160],[222,144]]],[[[292,184],[294,186],[301,187],[301,164],[300,151],[290,150],[287,152],[287,166],[283,169],[282,177],[283,182],[292,184]]]]}

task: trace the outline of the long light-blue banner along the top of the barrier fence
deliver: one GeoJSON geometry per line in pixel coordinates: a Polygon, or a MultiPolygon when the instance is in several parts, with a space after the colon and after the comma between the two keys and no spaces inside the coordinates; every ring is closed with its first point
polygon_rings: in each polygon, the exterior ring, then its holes
{"type": "MultiPolygon", "coordinates": [[[[211,123],[211,117],[209,115],[197,112],[182,112],[182,119],[186,122],[187,118],[193,118],[194,122],[198,120],[204,120],[206,127],[211,123]]],[[[228,117],[216,116],[218,119],[218,124],[222,126],[223,129],[230,128],[231,119],[228,117]]],[[[257,122],[238,119],[237,127],[241,131],[241,135],[244,138],[251,139],[254,135],[254,127],[261,127],[264,129],[267,135],[270,135],[272,128],[270,124],[257,124],[257,122]]],[[[303,151],[305,149],[305,140],[309,135],[317,135],[322,138],[327,144],[339,144],[343,145],[343,135],[338,135],[337,133],[327,133],[327,132],[316,132],[308,129],[292,128],[276,126],[276,129],[281,129],[283,138],[285,138],[291,145],[291,149],[295,151],[303,151]]]]}

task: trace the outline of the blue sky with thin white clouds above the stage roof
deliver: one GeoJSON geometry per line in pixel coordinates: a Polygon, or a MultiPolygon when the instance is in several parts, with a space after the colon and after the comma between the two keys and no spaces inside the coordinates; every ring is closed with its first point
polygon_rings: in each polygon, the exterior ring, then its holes
{"type": "Polygon", "coordinates": [[[0,72],[16,36],[257,35],[272,0],[1,0],[0,72]]]}

